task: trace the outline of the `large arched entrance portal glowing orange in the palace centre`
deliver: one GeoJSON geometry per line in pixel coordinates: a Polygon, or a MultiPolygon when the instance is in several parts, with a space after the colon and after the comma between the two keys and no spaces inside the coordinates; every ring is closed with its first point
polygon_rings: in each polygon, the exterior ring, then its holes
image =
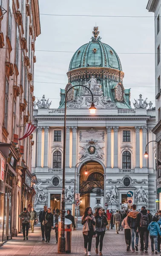
{"type": "Polygon", "coordinates": [[[91,161],[86,163],[87,174],[85,174],[85,166],[80,169],[79,192],[81,197],[80,215],[83,215],[86,207],[91,207],[95,211],[95,207],[103,207],[104,195],[104,171],[100,163],[91,161]]]}

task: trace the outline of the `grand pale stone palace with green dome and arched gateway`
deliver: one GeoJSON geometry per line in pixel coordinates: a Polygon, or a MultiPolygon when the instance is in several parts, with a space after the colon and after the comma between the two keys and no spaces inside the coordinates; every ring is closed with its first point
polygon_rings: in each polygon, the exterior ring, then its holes
{"type": "Polygon", "coordinates": [[[147,142],[155,140],[155,108],[141,94],[133,103],[135,108],[131,107],[121,61],[98,34],[94,27],[92,41],[73,55],[68,84],[60,90],[59,108],[50,109],[44,95],[35,102],[32,173],[38,182],[37,212],[44,204],[60,209],[64,97],[71,85],[76,87],[67,96],[66,209],[72,209],[75,187],[81,197],[80,215],[88,206],[94,210],[106,203],[108,209],[126,208],[129,191],[137,209],[142,205],[155,209],[155,143],[148,145],[148,159],[144,157],[147,142]],[[94,97],[95,114],[89,113],[92,95],[88,89],[94,97]]]}

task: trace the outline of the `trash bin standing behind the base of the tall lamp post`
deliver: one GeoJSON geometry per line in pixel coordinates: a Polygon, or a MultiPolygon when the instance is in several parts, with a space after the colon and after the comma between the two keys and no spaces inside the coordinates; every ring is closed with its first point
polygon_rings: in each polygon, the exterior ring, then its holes
{"type": "MultiPolygon", "coordinates": [[[[58,220],[58,248],[59,248],[59,237],[61,229],[61,220],[58,220]]],[[[72,244],[72,221],[65,218],[65,238],[66,238],[66,253],[71,253],[72,244]]]]}

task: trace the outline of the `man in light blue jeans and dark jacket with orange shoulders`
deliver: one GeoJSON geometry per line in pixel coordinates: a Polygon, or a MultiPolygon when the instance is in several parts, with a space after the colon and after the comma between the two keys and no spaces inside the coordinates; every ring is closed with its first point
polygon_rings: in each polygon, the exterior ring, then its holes
{"type": "Polygon", "coordinates": [[[127,216],[127,223],[131,230],[131,245],[132,245],[132,252],[135,252],[135,250],[138,252],[138,240],[139,240],[139,234],[138,230],[136,229],[136,218],[138,215],[138,211],[136,211],[136,205],[132,205],[132,211],[129,212],[127,216]]]}

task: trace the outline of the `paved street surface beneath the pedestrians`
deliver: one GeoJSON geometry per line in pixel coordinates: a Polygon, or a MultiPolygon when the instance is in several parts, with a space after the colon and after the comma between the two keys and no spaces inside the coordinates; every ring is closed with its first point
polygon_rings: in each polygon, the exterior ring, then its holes
{"type": "MultiPolygon", "coordinates": [[[[30,231],[31,232],[31,231],[30,231]]],[[[7,241],[0,247],[0,256],[53,256],[58,254],[58,246],[55,239],[55,231],[51,232],[50,244],[42,242],[40,227],[35,227],[34,233],[29,233],[29,241],[23,241],[23,234],[18,234],[17,237],[7,241]]],[[[149,241],[150,242],[150,241],[149,241]]],[[[140,241],[139,241],[140,246],[140,241]]],[[[140,249],[140,247],[139,247],[140,249]]],[[[103,255],[140,255],[144,253],[132,253],[126,251],[126,244],[124,239],[124,231],[115,234],[115,230],[106,231],[103,240],[103,255]]],[[[82,226],[78,226],[78,230],[72,232],[72,251],[74,256],[84,256],[82,226]]],[[[151,254],[151,247],[149,244],[148,254],[151,254]]],[[[91,255],[96,256],[95,253],[95,238],[92,240],[91,255]]],[[[159,255],[159,254],[158,254],[159,255]]],[[[159,255],[160,256],[160,255],[159,255]]]]}

